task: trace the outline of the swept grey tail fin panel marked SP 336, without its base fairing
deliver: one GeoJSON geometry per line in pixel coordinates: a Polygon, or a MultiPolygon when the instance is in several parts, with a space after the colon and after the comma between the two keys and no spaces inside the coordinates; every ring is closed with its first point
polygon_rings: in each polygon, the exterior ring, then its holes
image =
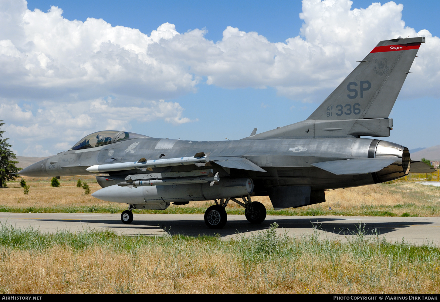
{"type": "Polygon", "coordinates": [[[388,118],[424,42],[425,37],[381,41],[308,119],[388,118]]]}

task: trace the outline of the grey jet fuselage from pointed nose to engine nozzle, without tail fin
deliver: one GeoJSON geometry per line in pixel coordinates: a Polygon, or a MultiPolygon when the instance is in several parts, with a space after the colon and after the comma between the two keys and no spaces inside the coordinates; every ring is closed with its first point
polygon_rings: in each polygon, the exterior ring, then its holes
{"type": "MultiPolygon", "coordinates": [[[[268,188],[277,186],[310,186],[312,190],[355,187],[373,184],[405,175],[402,168],[404,147],[380,141],[394,149],[394,154],[388,150],[378,154],[378,140],[365,138],[315,138],[315,139],[269,139],[269,140],[226,140],[226,141],[195,141],[169,140],[157,138],[137,138],[92,147],[81,150],[70,150],[59,153],[43,161],[30,165],[20,174],[27,176],[72,176],[94,174],[86,171],[91,165],[103,165],[117,162],[136,162],[140,158],[146,160],[157,158],[180,158],[193,156],[197,152],[209,154],[209,158],[239,157],[246,158],[267,171],[257,172],[243,169],[224,168],[212,164],[214,173],[220,171],[220,176],[250,177],[254,182],[255,195],[267,195],[268,188]],[[399,154],[400,151],[400,154],[399,154]],[[370,152],[370,154],[369,154],[370,152]],[[388,154],[390,153],[390,154],[388,154]],[[381,178],[378,173],[335,175],[311,164],[316,162],[335,161],[356,158],[394,158],[395,170],[400,170],[390,177],[381,178]],[[399,168],[400,167],[400,168],[399,168]]],[[[409,158],[409,154],[407,156],[409,158]]],[[[187,171],[186,166],[173,167],[173,171],[187,171]]],[[[153,168],[161,172],[163,168],[153,168]]],[[[100,182],[102,187],[116,184],[135,170],[124,173],[111,173],[114,181],[100,182]],[[118,177],[119,176],[119,177],[118,177]]],[[[138,171],[138,173],[145,173],[138,171]]],[[[379,173],[380,174],[380,173],[379,173]]]]}

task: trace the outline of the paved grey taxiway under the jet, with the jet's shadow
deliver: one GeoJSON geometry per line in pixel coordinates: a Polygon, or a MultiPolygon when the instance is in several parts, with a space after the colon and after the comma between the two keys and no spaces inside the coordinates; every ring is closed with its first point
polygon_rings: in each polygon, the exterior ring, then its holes
{"type": "Polygon", "coordinates": [[[367,237],[382,237],[389,242],[405,241],[412,244],[434,244],[440,247],[440,217],[348,217],[348,216],[267,216],[263,223],[250,224],[244,215],[229,215],[221,230],[206,227],[203,215],[136,214],[131,224],[121,222],[121,214],[62,214],[62,213],[0,213],[2,225],[41,232],[57,230],[71,232],[105,230],[109,228],[128,236],[220,236],[224,238],[252,236],[278,223],[279,234],[346,241],[359,230],[367,237]]]}

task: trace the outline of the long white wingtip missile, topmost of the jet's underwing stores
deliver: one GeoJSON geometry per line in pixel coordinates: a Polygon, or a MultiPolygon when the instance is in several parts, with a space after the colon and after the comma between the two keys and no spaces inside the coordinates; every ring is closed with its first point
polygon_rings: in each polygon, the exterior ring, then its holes
{"type": "MultiPolygon", "coordinates": [[[[141,160],[145,160],[145,158],[142,158],[141,160]]],[[[92,173],[101,173],[101,172],[120,171],[120,170],[129,170],[129,169],[169,167],[172,165],[193,165],[208,161],[209,159],[205,155],[205,153],[199,152],[196,153],[196,155],[190,157],[154,159],[143,162],[140,161],[120,162],[120,163],[106,164],[106,165],[92,165],[88,167],[86,170],[92,173]]]]}

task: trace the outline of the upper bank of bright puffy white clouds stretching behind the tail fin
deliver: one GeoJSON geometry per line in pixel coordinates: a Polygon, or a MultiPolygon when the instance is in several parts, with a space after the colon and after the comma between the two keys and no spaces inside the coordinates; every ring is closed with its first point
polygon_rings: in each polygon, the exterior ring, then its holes
{"type": "Polygon", "coordinates": [[[59,7],[44,13],[29,11],[23,0],[3,1],[7,22],[0,25],[0,89],[28,97],[36,92],[64,96],[65,101],[72,93],[79,99],[116,94],[158,100],[194,91],[200,76],[206,76],[216,86],[273,86],[310,101],[314,91],[340,83],[379,40],[421,35],[427,37],[420,49],[424,58],[413,68],[423,73],[408,82],[434,88],[440,39],[405,27],[402,4],[353,10],[351,5],[349,0],[304,0],[302,36],[285,42],[271,43],[257,32],[228,26],[214,43],[205,39],[205,30],[180,34],[165,23],[148,36],[102,19],[70,21],[59,7]]]}

